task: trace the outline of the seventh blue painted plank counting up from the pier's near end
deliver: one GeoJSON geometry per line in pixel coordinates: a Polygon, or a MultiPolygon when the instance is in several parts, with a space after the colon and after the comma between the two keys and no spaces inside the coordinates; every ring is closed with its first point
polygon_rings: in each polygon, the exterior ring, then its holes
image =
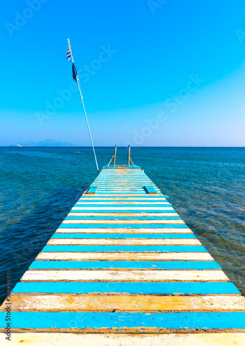
{"type": "Polygon", "coordinates": [[[96,217],[84,217],[84,216],[75,216],[75,217],[66,217],[65,220],[91,220],[91,219],[96,219],[96,220],[181,220],[181,217],[145,217],[145,216],[130,216],[130,217],[107,217],[107,216],[96,216],[96,217]]]}

